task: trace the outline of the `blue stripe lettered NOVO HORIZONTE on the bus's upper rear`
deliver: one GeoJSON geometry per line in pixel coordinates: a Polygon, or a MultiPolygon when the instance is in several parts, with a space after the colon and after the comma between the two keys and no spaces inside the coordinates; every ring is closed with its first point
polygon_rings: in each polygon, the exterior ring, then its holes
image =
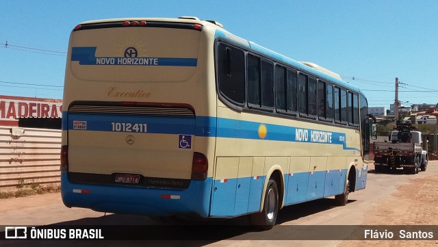
{"type": "Polygon", "coordinates": [[[97,47],[72,47],[71,61],[80,65],[196,66],[196,58],[185,57],[96,57],[97,47]]]}

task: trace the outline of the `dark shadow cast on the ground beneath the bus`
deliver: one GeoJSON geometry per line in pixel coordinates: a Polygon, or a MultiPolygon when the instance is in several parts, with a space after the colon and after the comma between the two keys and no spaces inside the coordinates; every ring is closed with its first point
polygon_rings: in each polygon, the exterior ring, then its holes
{"type": "MultiPolygon", "coordinates": [[[[349,200],[354,203],[355,200],[349,200]]],[[[297,220],[337,207],[333,198],[322,198],[291,205],[279,211],[276,226],[270,231],[258,231],[250,226],[248,216],[228,220],[183,220],[167,218],[151,220],[147,216],[108,214],[96,218],[81,218],[42,226],[46,229],[102,229],[103,241],[84,239],[32,242],[32,246],[205,246],[224,239],[271,239],[272,231],[283,233],[285,222],[297,220]],[[183,240],[183,241],[181,241],[183,240]]],[[[38,226],[37,226],[38,229],[38,226]]],[[[289,234],[289,233],[287,233],[289,234]]],[[[28,242],[8,242],[10,246],[27,246],[28,242]],[[13,244],[14,243],[14,244],[13,244]]],[[[8,245],[6,245],[8,246],[8,245]]]]}

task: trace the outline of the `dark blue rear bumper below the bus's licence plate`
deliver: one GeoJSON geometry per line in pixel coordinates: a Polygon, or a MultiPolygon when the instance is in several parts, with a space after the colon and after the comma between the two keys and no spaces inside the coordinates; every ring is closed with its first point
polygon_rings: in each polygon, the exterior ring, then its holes
{"type": "Polygon", "coordinates": [[[191,181],[186,190],[72,183],[61,173],[62,201],[66,207],[148,216],[207,218],[212,179],[191,181]]]}

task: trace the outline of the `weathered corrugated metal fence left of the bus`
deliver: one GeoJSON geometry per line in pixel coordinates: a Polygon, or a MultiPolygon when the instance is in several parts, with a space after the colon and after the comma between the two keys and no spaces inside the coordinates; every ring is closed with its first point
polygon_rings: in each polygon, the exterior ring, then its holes
{"type": "Polygon", "coordinates": [[[0,127],[0,190],[60,183],[61,131],[0,127]]]}

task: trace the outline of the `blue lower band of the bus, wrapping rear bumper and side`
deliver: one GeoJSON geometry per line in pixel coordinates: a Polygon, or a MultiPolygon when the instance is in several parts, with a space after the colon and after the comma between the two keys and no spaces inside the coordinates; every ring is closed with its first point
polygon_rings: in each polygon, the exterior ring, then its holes
{"type": "MultiPolygon", "coordinates": [[[[342,194],[347,170],[284,174],[284,205],[342,194]],[[325,183],[324,183],[325,181],[325,183]],[[325,185],[325,186],[324,186],[325,185]]],[[[365,188],[366,168],[357,175],[356,190],[365,188]]],[[[357,172],[358,173],[358,172],[357,172]]],[[[233,179],[207,178],[192,181],[187,190],[75,184],[62,172],[62,200],[67,207],[86,207],[95,211],[136,213],[150,216],[191,215],[233,217],[259,211],[265,176],[233,179]],[[211,190],[213,187],[213,190],[211,190]],[[111,190],[109,190],[111,188],[111,190]],[[86,190],[87,193],[75,193],[86,190]],[[210,208],[210,193],[211,209],[210,208]],[[163,196],[166,195],[166,198],[163,196]],[[173,198],[169,198],[172,196],[173,198]],[[135,200],[133,199],[135,198],[135,200]]]]}

